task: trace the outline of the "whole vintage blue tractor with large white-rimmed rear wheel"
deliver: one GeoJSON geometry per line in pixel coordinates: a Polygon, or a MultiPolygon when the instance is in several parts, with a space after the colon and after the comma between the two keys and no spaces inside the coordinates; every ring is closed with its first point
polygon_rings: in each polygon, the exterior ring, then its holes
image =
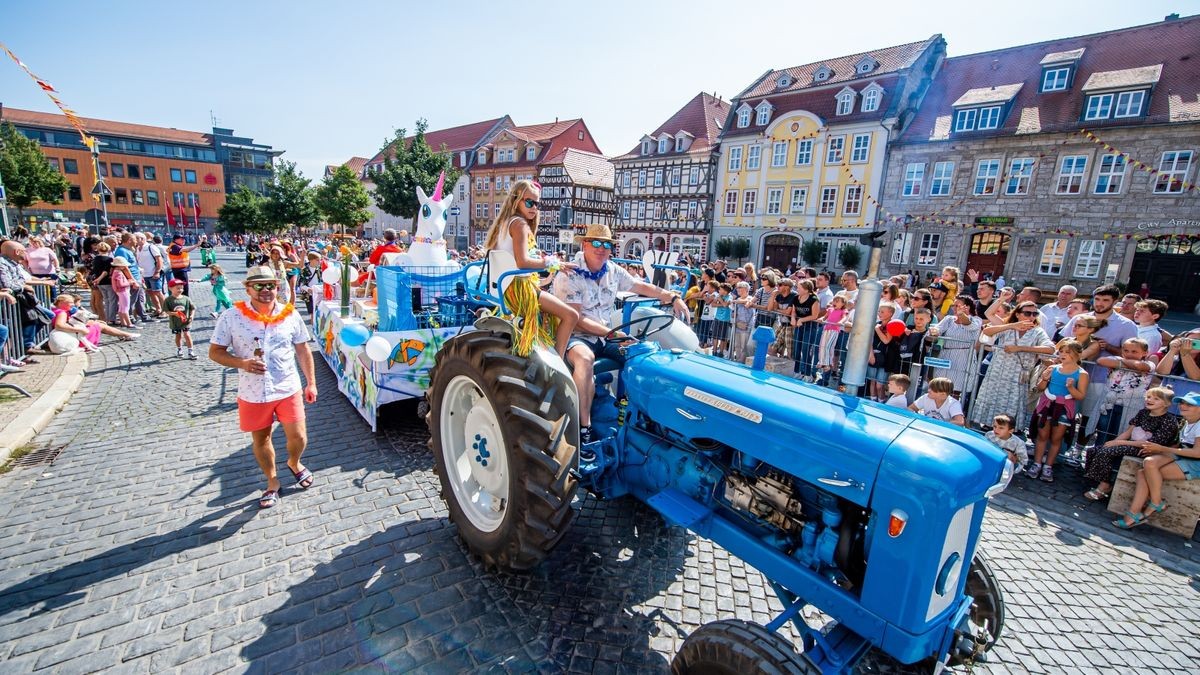
{"type": "Polygon", "coordinates": [[[664,347],[672,321],[614,329],[641,340],[598,359],[598,440],[583,447],[556,353],[515,356],[496,317],[446,341],[430,447],[467,548],[528,571],[566,532],[577,490],[629,495],[754,565],[784,607],[767,626],[701,627],[676,673],[846,673],[871,649],[937,670],[986,651],[1003,599],[976,549],[1004,455],[942,422],[664,347]],[[810,628],[805,604],[833,627],[810,628]],[[803,652],[778,631],[788,621],[803,652]]]}

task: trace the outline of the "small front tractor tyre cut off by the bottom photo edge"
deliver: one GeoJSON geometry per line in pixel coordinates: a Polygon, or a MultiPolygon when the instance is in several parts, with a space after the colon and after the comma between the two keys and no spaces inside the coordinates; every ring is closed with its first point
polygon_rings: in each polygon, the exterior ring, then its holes
{"type": "Polygon", "coordinates": [[[671,662],[674,675],[820,675],[791,640],[740,619],[706,623],[688,635],[671,662]]]}

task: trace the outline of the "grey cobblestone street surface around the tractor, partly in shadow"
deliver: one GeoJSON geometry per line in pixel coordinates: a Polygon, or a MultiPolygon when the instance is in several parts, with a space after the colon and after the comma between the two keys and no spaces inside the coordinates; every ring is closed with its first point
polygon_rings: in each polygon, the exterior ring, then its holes
{"type": "MultiPolygon", "coordinates": [[[[586,498],[533,573],[485,572],[446,518],[424,424],[372,435],[320,363],[317,484],[286,478],[259,510],[235,374],[176,359],[169,338],[148,327],[92,357],[35,441],[59,459],[0,477],[0,670],[656,673],[701,623],[780,609],[752,568],[632,501],[586,498]]],[[[1196,671],[1187,555],[1020,494],[984,530],[1008,620],[976,671],[1196,671]]]]}

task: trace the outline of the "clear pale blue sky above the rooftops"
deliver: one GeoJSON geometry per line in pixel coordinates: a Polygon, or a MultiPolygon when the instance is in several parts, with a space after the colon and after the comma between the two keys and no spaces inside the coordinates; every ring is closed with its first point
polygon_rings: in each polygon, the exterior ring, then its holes
{"type": "MultiPolygon", "coordinates": [[[[950,55],[1162,20],[1195,0],[979,4],[0,0],[0,41],[83,117],[220,126],[313,179],[396,127],[582,117],[608,155],[698,91],[941,32],[950,55]],[[598,8],[599,7],[599,8],[598,8]]],[[[55,112],[7,58],[0,102],[55,112]]]]}

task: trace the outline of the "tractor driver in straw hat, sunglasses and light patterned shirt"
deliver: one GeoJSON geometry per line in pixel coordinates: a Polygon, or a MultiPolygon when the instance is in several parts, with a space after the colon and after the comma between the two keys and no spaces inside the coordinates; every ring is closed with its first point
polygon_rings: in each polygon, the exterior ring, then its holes
{"type": "MultiPolygon", "coordinates": [[[[611,333],[608,319],[616,306],[617,293],[632,291],[647,298],[658,298],[671,305],[676,316],[689,321],[688,305],[678,293],[664,291],[634,279],[619,264],[610,264],[617,240],[607,225],[589,225],[575,243],[583,250],[575,258],[575,274],[554,276],[553,292],[560,300],[580,312],[575,333],[566,344],[566,362],[574,370],[575,388],[580,392],[580,440],[592,442],[593,365],[604,351],[605,338],[611,333]]],[[[617,335],[620,338],[620,335],[617,335]]]]}

